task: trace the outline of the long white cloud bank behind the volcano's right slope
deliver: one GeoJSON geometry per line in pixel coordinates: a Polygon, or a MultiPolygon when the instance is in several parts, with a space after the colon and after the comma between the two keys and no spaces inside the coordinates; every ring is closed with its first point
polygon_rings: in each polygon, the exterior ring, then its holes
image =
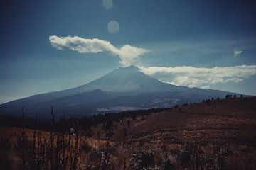
{"type": "Polygon", "coordinates": [[[142,72],[177,86],[207,88],[209,85],[243,81],[256,75],[256,65],[233,67],[140,67],[142,72]]]}

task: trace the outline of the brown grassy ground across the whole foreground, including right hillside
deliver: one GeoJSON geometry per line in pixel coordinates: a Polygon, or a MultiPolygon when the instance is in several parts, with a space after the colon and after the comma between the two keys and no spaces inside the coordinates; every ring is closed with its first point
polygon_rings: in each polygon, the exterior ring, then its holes
{"type": "MultiPolygon", "coordinates": [[[[123,118],[113,122],[108,137],[104,125],[93,125],[91,137],[70,138],[65,134],[62,142],[58,142],[61,135],[55,133],[52,146],[56,155],[60,150],[68,155],[70,166],[45,158],[48,162],[32,161],[32,167],[38,164],[55,169],[49,166],[55,164],[58,169],[256,169],[256,97],[214,99],[123,118]],[[63,147],[65,143],[68,147],[63,147]],[[75,158],[78,162],[74,163],[75,158]]],[[[0,127],[0,169],[22,169],[23,148],[17,147],[21,132],[22,128],[0,127]]],[[[46,145],[50,143],[50,132],[36,131],[35,135],[34,130],[26,129],[26,136],[27,145],[34,138],[32,146],[50,152],[47,146],[51,145],[46,145]],[[38,145],[38,138],[46,139],[43,145],[38,145]]],[[[29,147],[25,152],[35,157],[42,154],[29,151],[29,147]]],[[[60,160],[62,154],[58,157],[55,160],[60,160]]]]}

